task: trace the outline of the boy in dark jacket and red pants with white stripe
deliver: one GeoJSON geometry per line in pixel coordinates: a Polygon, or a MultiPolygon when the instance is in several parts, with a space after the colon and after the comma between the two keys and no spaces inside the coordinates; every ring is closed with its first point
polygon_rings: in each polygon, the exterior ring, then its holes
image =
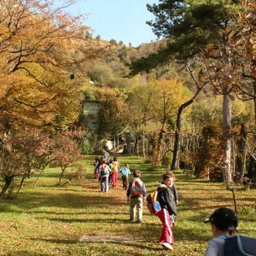
{"type": "Polygon", "coordinates": [[[160,221],[163,224],[160,236],[160,244],[169,250],[173,250],[172,245],[174,244],[170,215],[177,215],[177,207],[175,204],[174,196],[172,194],[172,190],[168,189],[172,188],[173,180],[173,173],[166,172],[163,174],[163,181],[157,189],[160,211],[156,212],[156,215],[158,218],[160,218],[160,221]]]}

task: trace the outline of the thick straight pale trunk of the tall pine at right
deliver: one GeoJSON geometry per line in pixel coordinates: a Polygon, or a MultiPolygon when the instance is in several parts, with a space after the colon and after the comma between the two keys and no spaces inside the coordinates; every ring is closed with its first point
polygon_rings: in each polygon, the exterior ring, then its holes
{"type": "Polygon", "coordinates": [[[231,100],[228,94],[224,94],[223,100],[223,133],[224,133],[224,183],[233,181],[231,173],[231,100]]]}

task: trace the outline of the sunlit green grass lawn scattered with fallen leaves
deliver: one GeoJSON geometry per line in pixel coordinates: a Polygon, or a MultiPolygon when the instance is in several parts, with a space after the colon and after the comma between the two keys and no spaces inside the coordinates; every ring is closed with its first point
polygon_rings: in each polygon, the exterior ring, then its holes
{"type": "MultiPolygon", "coordinates": [[[[158,243],[161,224],[144,205],[145,224],[130,223],[129,205],[121,187],[100,192],[93,178],[94,156],[84,156],[83,183],[66,183],[56,187],[58,168],[49,168],[40,177],[26,180],[24,189],[12,200],[0,201],[0,255],[203,255],[211,237],[209,224],[203,220],[221,206],[233,207],[232,194],[222,183],[195,179],[177,171],[178,215],[173,229],[174,252],[158,243]],[[80,241],[86,236],[91,241],[80,241]],[[122,241],[125,238],[130,241],[122,241]],[[113,241],[106,241],[108,239],[113,241]],[[169,254],[168,254],[169,253],[169,254]]],[[[120,156],[123,166],[143,172],[148,193],[161,181],[165,169],[152,171],[143,158],[120,156]]],[[[130,177],[131,179],[131,177],[130,177]]],[[[62,183],[65,183],[63,179],[62,183]]],[[[242,235],[255,236],[255,190],[236,192],[239,228],[242,235]]]]}

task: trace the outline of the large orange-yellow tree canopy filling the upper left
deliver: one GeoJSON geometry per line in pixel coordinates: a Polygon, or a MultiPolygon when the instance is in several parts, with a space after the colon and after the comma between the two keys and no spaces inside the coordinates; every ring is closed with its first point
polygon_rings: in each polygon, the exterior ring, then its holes
{"type": "Polygon", "coordinates": [[[3,131],[22,125],[73,122],[79,86],[73,67],[99,54],[85,40],[89,27],[52,1],[1,1],[0,121],[3,131]],[[58,117],[55,119],[55,117],[58,117]]]}

